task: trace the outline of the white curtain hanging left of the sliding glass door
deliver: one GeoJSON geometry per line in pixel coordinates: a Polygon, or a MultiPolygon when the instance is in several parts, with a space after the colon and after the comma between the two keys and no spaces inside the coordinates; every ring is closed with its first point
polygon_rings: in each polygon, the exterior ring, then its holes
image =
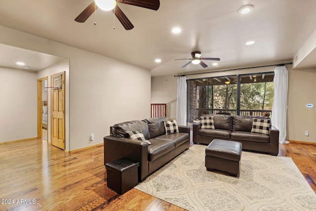
{"type": "Polygon", "coordinates": [[[179,126],[187,125],[187,79],[185,76],[178,78],[176,120],[179,126]]]}

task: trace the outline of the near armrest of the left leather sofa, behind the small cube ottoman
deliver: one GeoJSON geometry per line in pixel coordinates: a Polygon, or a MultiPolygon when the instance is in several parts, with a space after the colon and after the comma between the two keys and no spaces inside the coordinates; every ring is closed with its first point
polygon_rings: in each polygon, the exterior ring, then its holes
{"type": "Polygon", "coordinates": [[[106,163],[128,158],[140,164],[139,180],[148,175],[148,143],[124,137],[105,136],[104,140],[104,165],[106,163]]]}

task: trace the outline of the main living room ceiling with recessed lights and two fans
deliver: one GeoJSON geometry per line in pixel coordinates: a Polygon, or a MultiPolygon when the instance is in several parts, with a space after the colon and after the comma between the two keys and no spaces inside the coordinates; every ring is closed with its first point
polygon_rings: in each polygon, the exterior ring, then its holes
{"type": "Polygon", "coordinates": [[[158,11],[118,3],[134,25],[130,31],[117,19],[114,30],[113,13],[100,9],[96,26],[94,15],[77,23],[91,2],[0,0],[0,25],[144,67],[152,76],[292,59],[316,29],[316,0],[160,0],[158,11]],[[245,4],[254,9],[241,15],[237,10],[245,4]],[[181,34],[171,33],[175,26],[181,34]],[[245,45],[250,40],[255,44],[245,45]],[[218,67],[205,61],[208,68],[181,68],[187,61],[174,60],[191,58],[195,50],[221,58],[218,67]]]}

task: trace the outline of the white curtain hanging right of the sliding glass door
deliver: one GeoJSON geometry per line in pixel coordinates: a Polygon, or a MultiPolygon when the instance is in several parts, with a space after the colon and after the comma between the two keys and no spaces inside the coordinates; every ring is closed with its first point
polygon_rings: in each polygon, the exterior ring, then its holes
{"type": "Polygon", "coordinates": [[[279,130],[279,143],[289,143],[286,136],[286,114],[287,114],[287,86],[288,71],[285,66],[278,66],[275,69],[275,96],[272,107],[272,125],[279,130]]]}

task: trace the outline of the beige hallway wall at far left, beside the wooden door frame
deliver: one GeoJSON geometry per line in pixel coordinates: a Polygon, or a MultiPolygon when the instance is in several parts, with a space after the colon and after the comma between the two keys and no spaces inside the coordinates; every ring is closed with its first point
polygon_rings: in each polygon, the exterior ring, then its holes
{"type": "Polygon", "coordinates": [[[37,137],[37,73],[0,67],[0,142],[37,137]]]}

